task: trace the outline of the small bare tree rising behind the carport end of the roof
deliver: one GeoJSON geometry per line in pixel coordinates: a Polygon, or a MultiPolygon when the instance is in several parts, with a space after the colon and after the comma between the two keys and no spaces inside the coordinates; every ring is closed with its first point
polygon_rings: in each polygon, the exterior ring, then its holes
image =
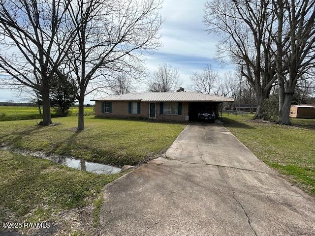
{"type": "Polygon", "coordinates": [[[191,89],[205,94],[216,93],[218,79],[219,74],[208,64],[202,71],[196,71],[190,76],[191,89]]]}

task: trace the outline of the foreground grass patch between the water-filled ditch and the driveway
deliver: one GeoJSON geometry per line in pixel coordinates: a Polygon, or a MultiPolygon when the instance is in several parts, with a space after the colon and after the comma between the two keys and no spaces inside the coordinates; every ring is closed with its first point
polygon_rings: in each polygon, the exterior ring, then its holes
{"type": "Polygon", "coordinates": [[[59,213],[85,206],[97,221],[101,189],[123,175],[97,175],[3,150],[0,161],[0,222],[58,224],[59,213]]]}

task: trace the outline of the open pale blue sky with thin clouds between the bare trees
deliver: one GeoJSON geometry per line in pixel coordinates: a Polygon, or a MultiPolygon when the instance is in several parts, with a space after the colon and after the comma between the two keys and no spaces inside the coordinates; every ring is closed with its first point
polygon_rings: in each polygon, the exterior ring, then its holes
{"type": "MultiPolygon", "coordinates": [[[[164,0],[161,15],[164,19],[160,31],[162,47],[147,57],[149,72],[157,69],[158,64],[169,63],[178,67],[183,87],[190,84],[189,77],[201,70],[206,64],[221,75],[232,68],[222,67],[215,61],[217,38],[204,31],[202,23],[205,0],[164,0]]],[[[141,89],[145,89],[144,86],[141,89]]],[[[97,95],[96,95],[97,96],[97,95]]],[[[85,102],[93,99],[87,96],[85,102]]],[[[20,101],[15,91],[0,90],[0,101],[12,99],[20,101]]],[[[91,102],[90,102],[91,103],[91,102]]]]}

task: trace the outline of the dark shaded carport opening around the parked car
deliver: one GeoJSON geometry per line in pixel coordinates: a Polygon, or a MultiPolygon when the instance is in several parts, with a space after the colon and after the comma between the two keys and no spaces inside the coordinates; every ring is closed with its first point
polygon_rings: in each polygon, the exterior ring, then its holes
{"type": "Polygon", "coordinates": [[[222,112],[222,102],[189,102],[189,121],[199,121],[198,113],[201,111],[213,111],[216,118],[220,117],[222,112]]]}

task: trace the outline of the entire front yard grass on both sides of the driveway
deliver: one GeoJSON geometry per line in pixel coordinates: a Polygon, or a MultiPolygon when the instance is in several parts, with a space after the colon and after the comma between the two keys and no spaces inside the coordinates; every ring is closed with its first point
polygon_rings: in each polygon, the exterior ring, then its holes
{"type": "MultiPolygon", "coordinates": [[[[76,117],[53,121],[57,125],[48,127],[36,126],[36,120],[2,121],[0,144],[109,165],[137,165],[168,148],[185,128],[87,116],[86,129],[78,133],[76,117]]],[[[258,158],[315,195],[315,120],[292,119],[296,126],[279,126],[229,115],[222,121],[258,158]]],[[[48,221],[50,233],[57,235],[94,234],[101,189],[123,175],[96,175],[5,150],[0,150],[0,161],[0,222],[48,221]]]]}

